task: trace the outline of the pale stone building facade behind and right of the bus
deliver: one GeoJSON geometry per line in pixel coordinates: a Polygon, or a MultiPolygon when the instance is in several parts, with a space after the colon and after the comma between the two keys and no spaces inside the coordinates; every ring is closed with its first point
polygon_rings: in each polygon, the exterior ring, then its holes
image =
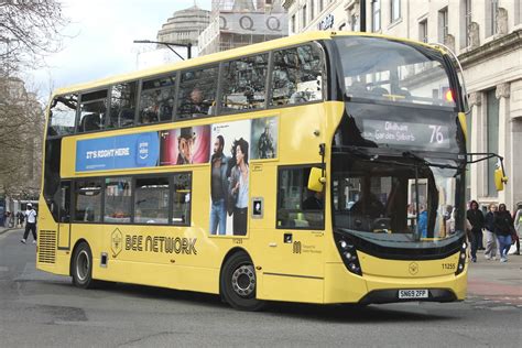
{"type": "MultiPolygon", "coordinates": [[[[284,0],[289,34],[359,31],[365,0],[284,0]]],[[[496,160],[468,167],[467,198],[522,203],[522,4],[519,0],[366,0],[366,31],[443,43],[464,68],[469,95],[468,152],[504,157],[509,183],[497,192],[496,160]]]]}

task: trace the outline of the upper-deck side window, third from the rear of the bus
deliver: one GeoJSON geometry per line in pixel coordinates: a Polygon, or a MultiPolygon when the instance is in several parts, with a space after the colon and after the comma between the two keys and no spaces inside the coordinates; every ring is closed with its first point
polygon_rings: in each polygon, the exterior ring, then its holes
{"type": "Polygon", "coordinates": [[[137,86],[135,81],[112,86],[109,128],[134,124],[137,86]]]}

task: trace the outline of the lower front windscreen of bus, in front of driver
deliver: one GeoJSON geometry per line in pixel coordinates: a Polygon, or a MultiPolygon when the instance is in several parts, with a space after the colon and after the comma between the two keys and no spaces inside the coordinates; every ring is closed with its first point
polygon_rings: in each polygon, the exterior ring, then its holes
{"type": "Polygon", "coordinates": [[[453,160],[425,160],[335,154],[335,228],[368,236],[410,235],[410,240],[460,235],[464,211],[459,211],[460,203],[456,200],[461,170],[453,160]]]}

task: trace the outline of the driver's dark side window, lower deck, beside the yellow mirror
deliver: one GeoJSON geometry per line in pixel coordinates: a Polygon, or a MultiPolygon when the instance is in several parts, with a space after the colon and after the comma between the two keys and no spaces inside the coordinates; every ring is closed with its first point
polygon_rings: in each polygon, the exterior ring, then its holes
{"type": "Polygon", "coordinates": [[[278,228],[323,229],[323,192],[307,189],[311,166],[280,168],[278,228]]]}

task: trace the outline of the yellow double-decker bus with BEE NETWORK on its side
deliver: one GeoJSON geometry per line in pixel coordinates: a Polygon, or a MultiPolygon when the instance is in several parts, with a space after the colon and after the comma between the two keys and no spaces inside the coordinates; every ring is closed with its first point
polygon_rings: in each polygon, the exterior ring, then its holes
{"type": "Polygon", "coordinates": [[[444,48],[319,32],[58,89],[37,268],[239,309],[466,296],[466,118],[444,48]]]}

